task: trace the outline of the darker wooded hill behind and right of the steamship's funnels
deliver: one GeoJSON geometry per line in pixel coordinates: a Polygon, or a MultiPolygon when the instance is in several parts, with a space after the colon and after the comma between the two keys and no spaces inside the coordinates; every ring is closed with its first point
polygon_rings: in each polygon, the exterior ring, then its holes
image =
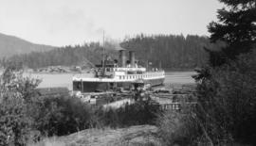
{"type": "Polygon", "coordinates": [[[204,47],[216,50],[220,44],[210,44],[207,37],[188,35],[139,35],[120,44],[128,50],[135,50],[137,58],[165,69],[193,69],[207,60],[204,47]]]}

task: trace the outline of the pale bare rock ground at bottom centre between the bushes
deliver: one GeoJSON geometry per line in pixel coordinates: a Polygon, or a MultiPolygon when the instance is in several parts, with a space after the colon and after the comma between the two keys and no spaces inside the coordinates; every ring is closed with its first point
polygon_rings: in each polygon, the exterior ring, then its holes
{"type": "Polygon", "coordinates": [[[39,145],[66,145],[66,146],[134,146],[160,145],[156,138],[157,128],[153,125],[137,125],[119,129],[87,129],[60,138],[50,138],[39,145]]]}

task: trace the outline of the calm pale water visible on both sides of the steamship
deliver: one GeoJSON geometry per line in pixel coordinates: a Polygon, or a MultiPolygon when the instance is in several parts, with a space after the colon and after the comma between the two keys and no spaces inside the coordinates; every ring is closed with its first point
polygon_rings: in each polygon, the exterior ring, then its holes
{"type": "MultiPolygon", "coordinates": [[[[191,84],[194,83],[192,75],[194,72],[168,72],[166,73],[165,84],[191,84]]],[[[25,73],[25,75],[42,79],[39,88],[66,87],[72,89],[73,73],[25,73]]]]}

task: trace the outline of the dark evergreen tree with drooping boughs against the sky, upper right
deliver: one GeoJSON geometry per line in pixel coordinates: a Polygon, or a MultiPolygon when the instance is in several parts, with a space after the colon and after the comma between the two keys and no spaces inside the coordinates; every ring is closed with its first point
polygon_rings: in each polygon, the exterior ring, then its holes
{"type": "Polygon", "coordinates": [[[210,51],[210,65],[220,66],[249,52],[256,41],[255,0],[219,0],[227,7],[218,10],[218,22],[209,25],[210,41],[224,41],[220,52],[210,51]]]}

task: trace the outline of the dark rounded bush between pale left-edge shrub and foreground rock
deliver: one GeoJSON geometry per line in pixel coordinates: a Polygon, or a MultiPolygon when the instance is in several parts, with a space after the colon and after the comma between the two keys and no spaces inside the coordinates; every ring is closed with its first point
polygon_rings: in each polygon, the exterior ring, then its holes
{"type": "Polygon", "coordinates": [[[89,105],[69,95],[39,97],[33,110],[34,126],[45,136],[63,136],[86,129],[92,115],[89,105]]]}

